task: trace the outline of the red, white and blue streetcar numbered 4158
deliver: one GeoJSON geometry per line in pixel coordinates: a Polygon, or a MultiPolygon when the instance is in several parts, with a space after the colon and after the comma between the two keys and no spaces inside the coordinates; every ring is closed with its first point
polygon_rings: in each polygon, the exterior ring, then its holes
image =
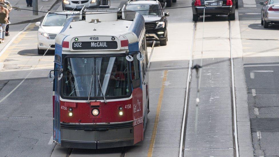
{"type": "Polygon", "coordinates": [[[149,112],[144,18],[82,9],[55,40],[53,141],[67,148],[132,146],[149,112]],[[100,14],[104,13],[105,14],[100,14]]]}

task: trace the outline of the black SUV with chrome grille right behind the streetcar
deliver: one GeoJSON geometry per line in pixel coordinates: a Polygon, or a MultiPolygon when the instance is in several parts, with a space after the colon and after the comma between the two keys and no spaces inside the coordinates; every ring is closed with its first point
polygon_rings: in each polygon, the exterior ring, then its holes
{"type": "Polygon", "coordinates": [[[160,41],[160,45],[167,45],[167,18],[158,1],[128,1],[126,10],[142,14],[145,20],[146,40],[160,41]],[[142,11],[141,11],[142,10],[142,11]]]}

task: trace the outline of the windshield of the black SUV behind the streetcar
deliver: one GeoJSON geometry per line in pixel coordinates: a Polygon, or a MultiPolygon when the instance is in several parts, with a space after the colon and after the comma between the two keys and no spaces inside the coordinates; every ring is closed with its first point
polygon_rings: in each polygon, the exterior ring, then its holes
{"type": "Polygon", "coordinates": [[[130,4],[127,5],[126,9],[135,11],[142,15],[162,15],[161,10],[152,10],[152,9],[160,9],[159,5],[155,5],[155,4],[130,4]]]}

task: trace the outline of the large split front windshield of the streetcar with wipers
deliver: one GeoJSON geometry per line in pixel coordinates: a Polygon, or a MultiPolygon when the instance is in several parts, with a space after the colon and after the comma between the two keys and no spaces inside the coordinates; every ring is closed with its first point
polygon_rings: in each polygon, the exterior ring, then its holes
{"type": "Polygon", "coordinates": [[[63,96],[88,98],[90,86],[90,97],[103,98],[101,88],[106,98],[128,96],[130,79],[127,65],[125,57],[66,58],[63,96]]]}

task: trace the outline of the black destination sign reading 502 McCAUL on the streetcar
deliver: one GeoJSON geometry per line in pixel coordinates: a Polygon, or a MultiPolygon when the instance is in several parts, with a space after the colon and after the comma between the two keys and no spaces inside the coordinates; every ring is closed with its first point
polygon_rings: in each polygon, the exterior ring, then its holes
{"type": "Polygon", "coordinates": [[[74,50],[81,49],[117,49],[117,41],[82,41],[73,42],[74,50]]]}

